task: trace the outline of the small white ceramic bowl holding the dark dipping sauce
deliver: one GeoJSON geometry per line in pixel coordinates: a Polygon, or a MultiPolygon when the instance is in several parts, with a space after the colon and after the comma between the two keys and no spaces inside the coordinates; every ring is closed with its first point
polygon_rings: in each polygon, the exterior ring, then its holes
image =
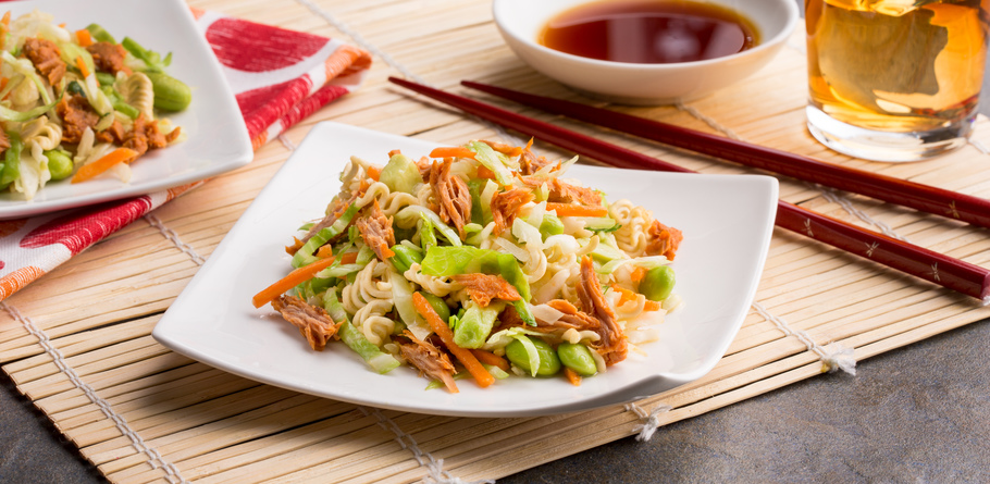
{"type": "Polygon", "coordinates": [[[579,91],[626,104],[688,101],[740,80],[774,58],[799,20],[794,0],[697,0],[741,12],[759,30],[759,45],[732,55],[672,64],[599,61],[536,42],[550,18],[591,1],[494,0],[495,24],[516,54],[536,71],[579,91]]]}

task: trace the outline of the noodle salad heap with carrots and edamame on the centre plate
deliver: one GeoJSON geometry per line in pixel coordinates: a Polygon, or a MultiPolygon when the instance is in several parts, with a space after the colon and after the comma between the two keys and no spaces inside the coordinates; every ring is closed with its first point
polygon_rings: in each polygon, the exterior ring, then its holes
{"type": "Polygon", "coordinates": [[[564,178],[525,147],[470,141],[419,161],[351,157],[295,268],[258,293],[321,351],[342,340],[379,372],[401,364],[458,392],[510,374],[579,385],[657,339],[680,303],[683,237],[629,200],[564,178]]]}

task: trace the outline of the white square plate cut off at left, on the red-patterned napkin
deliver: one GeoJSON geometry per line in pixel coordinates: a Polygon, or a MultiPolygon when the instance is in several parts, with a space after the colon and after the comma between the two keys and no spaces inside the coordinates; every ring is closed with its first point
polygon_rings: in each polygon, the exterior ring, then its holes
{"type": "Polygon", "coordinates": [[[182,0],[37,0],[4,3],[12,18],[40,10],[65,23],[70,30],[91,23],[103,26],[117,41],[131,37],[146,49],[172,52],[168,73],[193,90],[193,102],[180,113],[165,113],[182,126],[187,139],[149,151],[133,165],[129,183],[98,177],[86,183],[49,182],[33,200],[4,190],[0,219],[35,215],[54,210],[134,197],[185,185],[248,164],[252,158],[244,117],[224,80],[220,63],[196,28],[182,0]]]}

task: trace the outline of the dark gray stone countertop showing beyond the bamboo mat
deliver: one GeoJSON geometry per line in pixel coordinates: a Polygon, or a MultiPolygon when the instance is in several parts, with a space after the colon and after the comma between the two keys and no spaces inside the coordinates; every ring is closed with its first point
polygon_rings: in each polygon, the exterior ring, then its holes
{"type": "MultiPolygon", "coordinates": [[[[983,82],[980,112],[990,114],[983,82]]],[[[990,482],[990,320],[499,483],[990,482]]],[[[107,482],[0,372],[0,484],[107,482]]]]}

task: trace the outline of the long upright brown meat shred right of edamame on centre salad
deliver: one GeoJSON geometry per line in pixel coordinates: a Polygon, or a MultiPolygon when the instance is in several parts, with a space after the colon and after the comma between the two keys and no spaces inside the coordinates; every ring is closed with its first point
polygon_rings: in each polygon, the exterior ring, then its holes
{"type": "Polygon", "coordinates": [[[581,309],[584,312],[602,322],[602,326],[596,331],[602,338],[591,344],[591,348],[605,359],[607,365],[624,360],[628,350],[626,335],[616,321],[616,314],[605,300],[605,295],[602,294],[602,284],[598,282],[598,275],[595,274],[590,257],[581,260],[578,300],[581,301],[581,309]]]}

